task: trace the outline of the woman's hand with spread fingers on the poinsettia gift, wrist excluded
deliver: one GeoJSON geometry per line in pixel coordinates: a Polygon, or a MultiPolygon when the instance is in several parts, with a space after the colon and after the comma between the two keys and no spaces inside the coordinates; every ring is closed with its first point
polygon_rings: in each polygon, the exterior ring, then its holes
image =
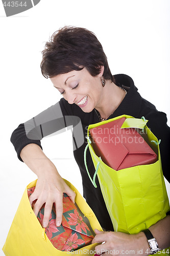
{"type": "Polygon", "coordinates": [[[45,228],[50,220],[53,203],[55,203],[56,226],[60,226],[63,214],[63,193],[67,194],[74,203],[76,194],[64,182],[55,166],[51,166],[51,169],[48,169],[48,172],[46,172],[46,170],[41,171],[41,174],[38,176],[34,193],[29,198],[30,204],[32,205],[33,201],[37,199],[33,208],[34,213],[37,216],[40,208],[45,203],[42,222],[42,226],[45,228]]]}

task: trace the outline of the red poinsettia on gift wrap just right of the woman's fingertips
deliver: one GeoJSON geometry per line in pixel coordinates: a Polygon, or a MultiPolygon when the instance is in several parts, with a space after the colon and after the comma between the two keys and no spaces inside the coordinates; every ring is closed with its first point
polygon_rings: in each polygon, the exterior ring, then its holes
{"type": "Polygon", "coordinates": [[[68,224],[76,226],[76,231],[82,232],[82,230],[87,233],[87,230],[90,231],[86,223],[83,221],[83,218],[79,215],[77,210],[74,210],[74,214],[69,214],[71,218],[68,218],[68,224]],[[81,230],[82,229],[82,230],[81,230]]]}

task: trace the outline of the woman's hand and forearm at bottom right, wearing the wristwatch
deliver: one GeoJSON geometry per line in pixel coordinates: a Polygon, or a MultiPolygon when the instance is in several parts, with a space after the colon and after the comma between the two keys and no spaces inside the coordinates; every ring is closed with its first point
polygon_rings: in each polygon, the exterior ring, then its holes
{"type": "MultiPolygon", "coordinates": [[[[158,246],[161,250],[170,246],[170,216],[166,216],[149,229],[152,232],[153,237],[158,242],[158,246]]],[[[103,255],[115,255],[114,252],[116,252],[117,255],[133,253],[134,256],[139,254],[147,256],[151,254],[151,248],[149,247],[149,243],[144,232],[139,232],[138,234],[127,234],[123,232],[95,230],[95,233],[96,236],[92,243],[102,243],[95,247],[96,253],[98,254],[103,253],[103,255]]],[[[165,252],[166,250],[164,253],[165,252]]]]}

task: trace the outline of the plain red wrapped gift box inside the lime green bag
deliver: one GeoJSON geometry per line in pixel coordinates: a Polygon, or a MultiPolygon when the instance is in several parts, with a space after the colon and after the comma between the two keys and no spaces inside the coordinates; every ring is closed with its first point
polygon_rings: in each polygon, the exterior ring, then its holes
{"type": "Polygon", "coordinates": [[[89,130],[95,154],[114,170],[156,162],[156,153],[135,128],[121,129],[125,119],[122,117],[89,130]]]}

